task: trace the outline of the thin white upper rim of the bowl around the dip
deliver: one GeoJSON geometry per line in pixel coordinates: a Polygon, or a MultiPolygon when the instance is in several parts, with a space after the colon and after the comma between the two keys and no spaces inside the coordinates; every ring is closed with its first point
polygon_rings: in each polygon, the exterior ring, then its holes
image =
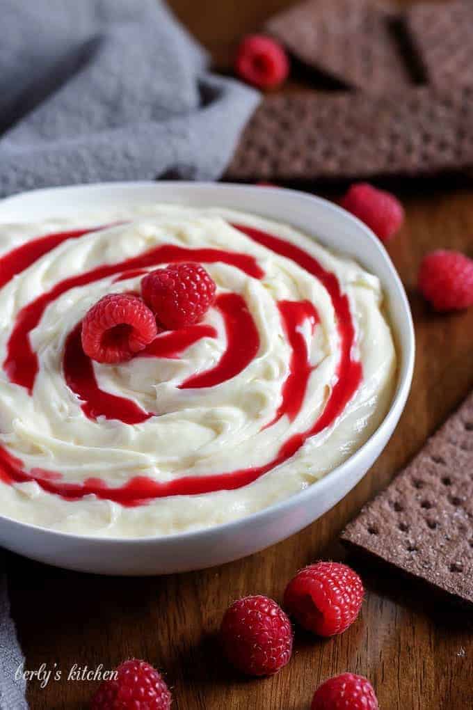
{"type": "MultiPolygon", "coordinates": [[[[396,302],[396,307],[400,307],[401,310],[403,311],[402,316],[405,319],[406,323],[406,345],[404,347],[401,347],[401,342],[399,338],[399,334],[396,334],[396,349],[398,351],[398,354],[401,354],[400,357],[400,362],[398,364],[397,368],[397,382],[396,382],[396,391],[394,392],[393,398],[391,400],[391,404],[389,405],[389,410],[386,412],[386,415],[384,416],[384,419],[380,423],[380,425],[377,427],[377,429],[374,430],[372,435],[369,436],[369,438],[366,440],[362,446],[357,449],[353,454],[350,455],[345,461],[343,461],[342,464],[339,464],[338,466],[335,466],[334,469],[331,471],[328,471],[327,474],[322,476],[321,479],[318,479],[317,481],[314,481],[313,484],[310,484],[306,488],[303,488],[301,491],[298,493],[294,493],[293,495],[283,498],[281,501],[277,501],[276,503],[272,503],[271,505],[262,508],[262,510],[257,510],[255,513],[250,513],[249,515],[244,515],[242,518],[237,518],[236,520],[230,520],[227,523],[220,523],[218,525],[211,525],[208,528],[199,528],[196,530],[185,530],[183,532],[172,532],[166,535],[143,535],[140,537],[108,537],[107,535],[83,535],[79,534],[77,532],[68,532],[67,530],[55,530],[54,528],[47,528],[43,525],[36,525],[35,523],[27,523],[23,522],[23,520],[16,520],[16,518],[10,518],[8,515],[2,515],[0,513],[0,522],[4,525],[13,525],[18,528],[26,528],[29,532],[37,532],[39,534],[47,535],[48,537],[52,538],[57,538],[59,539],[68,539],[77,543],[84,543],[88,544],[89,542],[98,542],[110,546],[115,546],[115,545],[127,545],[127,546],[133,546],[133,545],[172,545],[172,544],[177,544],[179,542],[184,542],[185,540],[192,540],[193,542],[196,540],[199,540],[201,538],[208,538],[211,535],[221,535],[221,534],[231,534],[232,532],[238,532],[238,529],[242,525],[251,525],[251,524],[264,524],[267,522],[267,520],[271,520],[273,517],[279,515],[279,513],[284,513],[286,509],[290,509],[292,506],[296,506],[297,503],[300,501],[304,501],[306,499],[307,501],[310,500],[311,496],[318,494],[318,493],[323,493],[325,488],[330,488],[330,486],[333,485],[336,479],[343,479],[343,476],[352,469],[353,466],[356,466],[361,459],[363,459],[365,452],[367,449],[370,447],[373,447],[374,444],[376,444],[379,440],[383,441],[385,439],[385,443],[389,440],[389,437],[391,436],[389,434],[389,429],[391,427],[391,422],[394,420],[394,428],[397,425],[397,421],[399,420],[399,417],[401,416],[402,411],[404,410],[404,406],[406,404],[406,400],[408,398],[408,393],[411,389],[411,382],[412,382],[412,377],[413,377],[413,368],[414,368],[414,360],[415,360],[415,346],[416,346],[416,338],[415,338],[415,332],[414,332],[414,327],[413,327],[413,319],[412,319],[412,314],[411,314],[411,308],[408,303],[408,298],[406,295],[406,291],[404,289],[404,285],[401,282],[401,279],[399,278],[399,274],[396,271],[396,267],[394,266],[394,263],[391,261],[391,257],[389,256],[389,253],[387,253],[386,249],[382,245],[381,241],[375,236],[374,232],[369,229],[369,227],[364,223],[361,222],[360,219],[355,217],[354,215],[350,214],[350,212],[347,212],[343,207],[340,207],[338,204],[335,204],[333,202],[330,202],[329,200],[325,200],[323,197],[319,197],[318,195],[313,195],[310,192],[302,192],[301,190],[294,190],[292,188],[288,187],[279,187],[277,185],[247,185],[244,183],[238,183],[238,182],[205,182],[205,181],[187,181],[187,180],[159,180],[159,181],[153,181],[153,180],[131,180],[131,181],[117,181],[117,182],[91,182],[91,183],[85,183],[85,184],[78,184],[78,185],[59,185],[56,187],[40,187],[36,190],[26,190],[24,192],[19,192],[16,195],[11,195],[9,197],[4,197],[3,199],[0,199],[0,224],[1,224],[1,208],[6,206],[9,206],[9,204],[14,204],[15,202],[21,202],[25,197],[28,195],[40,195],[42,194],[49,194],[51,192],[65,192],[65,191],[70,191],[74,192],[74,190],[80,191],[80,190],[139,190],[140,188],[156,188],[157,190],[160,189],[160,187],[166,187],[169,188],[170,186],[172,187],[184,187],[186,190],[196,190],[196,192],[199,192],[199,190],[207,190],[209,188],[213,190],[221,190],[222,192],[231,192],[232,190],[235,190],[235,188],[238,188],[241,192],[254,192],[255,190],[270,190],[272,192],[280,192],[284,193],[286,195],[289,193],[293,197],[296,197],[299,200],[304,200],[304,201],[310,201],[310,202],[316,202],[318,203],[319,207],[321,209],[328,210],[329,212],[333,212],[335,216],[338,217],[343,217],[343,219],[348,219],[351,222],[354,222],[357,225],[357,229],[362,231],[365,235],[365,238],[368,238],[368,240],[371,242],[372,247],[379,253],[379,256],[382,258],[382,260],[386,263],[387,271],[389,273],[389,278],[391,278],[392,285],[394,285],[396,291],[397,291],[397,297],[399,300],[396,302]],[[335,480],[334,480],[335,479],[335,480]]],[[[229,209],[232,209],[229,207],[229,209]]],[[[240,209],[240,208],[233,208],[233,209],[240,209]]],[[[271,219],[269,217],[269,219],[271,219]]],[[[287,224],[291,224],[290,221],[287,222],[287,224]]],[[[321,239],[321,241],[324,243],[324,240],[321,239]]],[[[330,249],[330,246],[328,247],[330,249]]],[[[345,497],[345,496],[344,496],[345,497]]]]}

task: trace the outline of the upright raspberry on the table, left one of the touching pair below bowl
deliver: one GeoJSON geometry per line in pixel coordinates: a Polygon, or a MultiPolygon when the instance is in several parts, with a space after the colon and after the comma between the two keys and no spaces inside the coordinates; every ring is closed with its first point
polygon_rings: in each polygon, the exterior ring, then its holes
{"type": "Polygon", "coordinates": [[[291,622],[267,596],[245,596],[233,602],[220,633],[226,657],[248,675],[276,673],[291,657],[291,622]]]}

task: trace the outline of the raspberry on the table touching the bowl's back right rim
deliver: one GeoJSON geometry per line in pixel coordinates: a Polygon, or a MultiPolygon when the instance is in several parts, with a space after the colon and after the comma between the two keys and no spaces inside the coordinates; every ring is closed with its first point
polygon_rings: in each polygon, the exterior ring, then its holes
{"type": "Polygon", "coordinates": [[[365,222],[381,241],[391,239],[404,222],[404,207],[397,197],[367,182],[352,185],[340,204],[365,222]]]}

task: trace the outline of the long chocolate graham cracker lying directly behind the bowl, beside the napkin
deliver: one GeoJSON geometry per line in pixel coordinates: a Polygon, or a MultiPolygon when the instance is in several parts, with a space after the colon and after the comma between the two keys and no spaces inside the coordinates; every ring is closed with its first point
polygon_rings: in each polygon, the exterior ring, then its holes
{"type": "Polygon", "coordinates": [[[402,94],[301,92],[263,99],[226,178],[366,178],[473,165],[473,85],[402,94]]]}

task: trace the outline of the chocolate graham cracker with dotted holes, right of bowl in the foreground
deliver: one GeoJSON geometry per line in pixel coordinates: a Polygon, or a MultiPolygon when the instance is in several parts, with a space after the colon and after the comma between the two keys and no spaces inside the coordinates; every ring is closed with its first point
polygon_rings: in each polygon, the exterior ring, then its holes
{"type": "Polygon", "coordinates": [[[473,393],[341,539],[473,604],[473,393]]]}

